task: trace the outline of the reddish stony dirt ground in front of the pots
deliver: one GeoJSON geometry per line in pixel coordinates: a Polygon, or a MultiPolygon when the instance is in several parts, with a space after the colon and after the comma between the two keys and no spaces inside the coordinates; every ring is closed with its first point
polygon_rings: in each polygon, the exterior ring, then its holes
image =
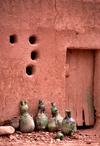
{"type": "Polygon", "coordinates": [[[32,133],[21,133],[20,131],[16,131],[12,135],[1,136],[0,146],[100,146],[100,130],[98,128],[78,129],[76,133],[64,136],[63,140],[54,138],[59,132],[34,131],[32,133]]]}

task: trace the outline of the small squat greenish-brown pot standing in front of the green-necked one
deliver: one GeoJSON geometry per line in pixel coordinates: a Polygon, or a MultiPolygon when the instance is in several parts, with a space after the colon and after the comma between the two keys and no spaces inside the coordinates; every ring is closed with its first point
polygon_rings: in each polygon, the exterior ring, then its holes
{"type": "Polygon", "coordinates": [[[56,118],[51,118],[48,122],[48,130],[50,132],[55,132],[58,130],[58,124],[56,118]]]}

